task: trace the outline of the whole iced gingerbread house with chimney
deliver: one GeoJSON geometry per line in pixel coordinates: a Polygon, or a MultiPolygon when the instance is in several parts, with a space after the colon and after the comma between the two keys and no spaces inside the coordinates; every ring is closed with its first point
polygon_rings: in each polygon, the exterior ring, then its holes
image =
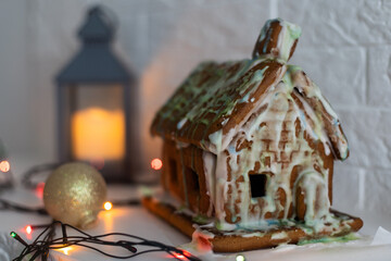
{"type": "MultiPolygon", "coordinates": [[[[362,226],[330,211],[333,161],[346,159],[349,147],[319,88],[288,64],[300,35],[297,25],[268,21],[252,59],[201,63],[155,115],[151,132],[164,139],[162,186],[193,223],[213,220],[212,228],[195,226],[205,238],[205,229],[230,237],[280,233],[269,229],[276,221],[292,221],[289,229],[315,227],[313,237],[362,226]]],[[[281,241],[272,237],[235,250],[281,241]]]]}

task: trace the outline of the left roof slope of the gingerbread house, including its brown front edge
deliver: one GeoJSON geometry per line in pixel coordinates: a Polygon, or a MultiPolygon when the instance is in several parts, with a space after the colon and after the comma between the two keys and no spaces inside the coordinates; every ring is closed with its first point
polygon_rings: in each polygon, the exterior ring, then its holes
{"type": "Polygon", "coordinates": [[[283,63],[269,59],[201,63],[157,112],[152,133],[216,151],[210,135],[243,124],[285,71],[283,63]]]}

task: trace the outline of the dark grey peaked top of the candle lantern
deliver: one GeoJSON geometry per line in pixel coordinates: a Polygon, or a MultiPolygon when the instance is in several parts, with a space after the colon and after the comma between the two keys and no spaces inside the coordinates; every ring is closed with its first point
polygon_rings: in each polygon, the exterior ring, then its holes
{"type": "Polygon", "coordinates": [[[78,32],[83,46],[56,77],[59,84],[117,83],[131,79],[128,69],[111,49],[114,20],[106,10],[93,7],[78,32]]]}

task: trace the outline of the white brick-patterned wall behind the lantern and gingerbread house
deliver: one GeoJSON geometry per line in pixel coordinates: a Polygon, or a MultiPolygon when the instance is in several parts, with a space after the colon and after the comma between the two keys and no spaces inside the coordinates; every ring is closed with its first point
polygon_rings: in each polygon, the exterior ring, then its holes
{"type": "Polygon", "coordinates": [[[11,156],[55,159],[53,77],[97,2],[117,14],[116,51],[139,77],[144,165],[160,154],[148,130],[153,114],[190,70],[249,58],[264,22],[280,16],[301,25],[291,62],[320,86],[350,141],[335,206],[391,217],[390,0],[1,0],[0,138],[11,156]]]}

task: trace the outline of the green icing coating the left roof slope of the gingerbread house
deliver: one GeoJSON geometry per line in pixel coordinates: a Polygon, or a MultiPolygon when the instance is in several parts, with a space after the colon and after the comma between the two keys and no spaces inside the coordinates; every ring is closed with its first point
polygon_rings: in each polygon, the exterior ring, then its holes
{"type": "Polygon", "coordinates": [[[255,59],[201,63],[159,111],[154,123],[156,130],[163,136],[169,133],[175,137],[186,135],[192,138],[199,126],[205,125],[200,140],[203,144],[213,123],[229,119],[237,104],[249,102],[263,80],[267,66],[249,71],[263,61],[265,60],[255,59]],[[238,99],[238,96],[241,98],[238,99]]]}

